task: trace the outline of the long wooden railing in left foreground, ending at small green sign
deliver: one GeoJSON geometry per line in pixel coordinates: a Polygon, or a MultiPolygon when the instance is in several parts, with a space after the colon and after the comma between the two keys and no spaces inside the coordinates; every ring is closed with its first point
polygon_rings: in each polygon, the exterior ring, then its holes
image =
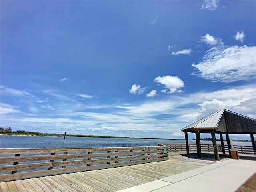
{"type": "Polygon", "coordinates": [[[164,160],[163,146],[0,149],[0,182],[164,160]]]}

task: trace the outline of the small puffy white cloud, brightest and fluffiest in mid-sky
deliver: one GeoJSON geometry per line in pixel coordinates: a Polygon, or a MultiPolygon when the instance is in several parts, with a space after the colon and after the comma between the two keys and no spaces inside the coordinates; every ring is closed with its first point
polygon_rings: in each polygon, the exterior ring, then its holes
{"type": "Polygon", "coordinates": [[[180,88],[184,87],[184,82],[177,76],[159,76],[154,81],[165,86],[166,89],[162,90],[165,93],[181,92],[180,88]]]}

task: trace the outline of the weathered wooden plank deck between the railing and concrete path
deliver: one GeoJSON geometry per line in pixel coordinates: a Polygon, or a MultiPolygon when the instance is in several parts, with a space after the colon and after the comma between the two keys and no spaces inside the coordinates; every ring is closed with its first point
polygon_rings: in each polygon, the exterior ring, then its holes
{"type": "MultiPolygon", "coordinates": [[[[1,192],[114,192],[216,163],[214,154],[169,153],[169,160],[118,168],[0,182],[1,192]]],[[[225,156],[220,156],[225,160],[225,156]]]]}

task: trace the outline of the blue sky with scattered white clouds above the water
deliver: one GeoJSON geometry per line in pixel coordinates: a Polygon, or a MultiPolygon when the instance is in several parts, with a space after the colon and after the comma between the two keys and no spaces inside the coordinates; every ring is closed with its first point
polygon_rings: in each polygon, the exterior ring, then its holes
{"type": "Polygon", "coordinates": [[[220,108],[256,118],[256,1],[0,3],[0,126],[184,138],[220,108]]]}

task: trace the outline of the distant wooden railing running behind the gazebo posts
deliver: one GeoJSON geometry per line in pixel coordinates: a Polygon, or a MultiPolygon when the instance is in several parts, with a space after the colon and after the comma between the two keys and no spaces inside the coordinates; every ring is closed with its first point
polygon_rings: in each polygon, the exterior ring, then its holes
{"type": "MultiPolygon", "coordinates": [[[[169,143],[169,144],[158,144],[158,146],[168,146],[168,152],[186,151],[186,144],[184,143],[169,143]]],[[[189,151],[196,151],[196,144],[189,144],[189,151]]],[[[217,144],[218,151],[222,152],[222,146],[217,144]]],[[[225,152],[228,153],[228,145],[224,145],[225,152]]],[[[234,150],[238,150],[240,154],[254,154],[252,146],[238,146],[233,145],[234,150]]],[[[212,144],[201,144],[202,152],[214,152],[212,144]]]]}

